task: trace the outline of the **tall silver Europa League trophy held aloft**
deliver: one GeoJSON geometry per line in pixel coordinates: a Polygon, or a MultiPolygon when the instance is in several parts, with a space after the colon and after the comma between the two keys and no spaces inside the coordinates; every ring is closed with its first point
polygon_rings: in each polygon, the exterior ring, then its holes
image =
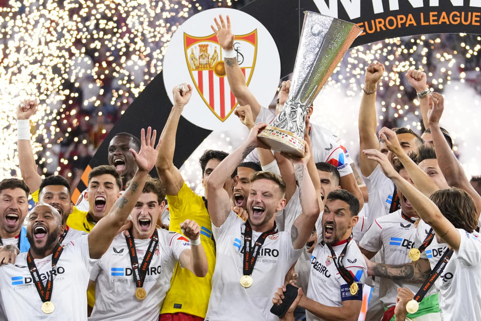
{"type": "Polygon", "coordinates": [[[334,68],[361,33],[357,25],[306,11],[289,98],[258,137],[276,151],[304,156],[309,107],[334,68]]]}

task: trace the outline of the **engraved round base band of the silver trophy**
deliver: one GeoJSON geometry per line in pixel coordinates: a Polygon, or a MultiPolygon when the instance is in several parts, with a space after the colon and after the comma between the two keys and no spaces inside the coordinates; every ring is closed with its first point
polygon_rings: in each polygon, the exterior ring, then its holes
{"type": "Polygon", "coordinates": [[[285,152],[286,154],[297,157],[304,157],[304,140],[299,139],[290,131],[274,126],[267,126],[257,137],[275,151],[285,152]]]}

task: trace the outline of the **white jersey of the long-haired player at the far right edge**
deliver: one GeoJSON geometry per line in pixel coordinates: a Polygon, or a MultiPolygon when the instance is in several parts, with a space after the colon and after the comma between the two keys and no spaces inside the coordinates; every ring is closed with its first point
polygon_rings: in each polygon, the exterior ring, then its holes
{"type": "Polygon", "coordinates": [[[457,229],[461,237],[436,283],[443,321],[481,320],[481,239],[478,233],[457,229]]]}

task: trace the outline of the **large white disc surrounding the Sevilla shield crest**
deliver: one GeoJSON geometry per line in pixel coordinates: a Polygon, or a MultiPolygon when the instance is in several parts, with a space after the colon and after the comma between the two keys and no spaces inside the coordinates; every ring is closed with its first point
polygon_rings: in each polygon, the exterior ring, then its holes
{"type": "MultiPolygon", "coordinates": [[[[257,57],[248,86],[261,105],[268,106],[272,101],[281,74],[281,61],[276,43],[269,31],[254,17],[242,11],[218,8],[200,12],[186,20],[173,34],[165,53],[163,61],[165,89],[173,103],[172,88],[183,82],[191,84],[193,87],[192,97],[182,115],[195,125],[210,130],[236,127],[240,121],[233,112],[224,121],[221,121],[202,99],[189,72],[184,51],[184,34],[192,37],[213,35],[210,25],[214,24],[214,17],[219,15],[222,15],[224,19],[226,15],[230,17],[234,35],[246,35],[257,30],[257,57]]],[[[190,51],[188,53],[190,54],[190,51]]],[[[242,67],[242,65],[240,66],[242,67]]],[[[246,73],[246,75],[248,74],[246,73]]],[[[224,83],[227,85],[227,77],[224,77],[224,83]]]]}

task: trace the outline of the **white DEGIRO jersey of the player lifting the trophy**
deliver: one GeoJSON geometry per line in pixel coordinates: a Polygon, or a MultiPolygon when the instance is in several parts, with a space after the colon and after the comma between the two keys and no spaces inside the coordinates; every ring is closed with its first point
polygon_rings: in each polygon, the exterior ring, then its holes
{"type": "MultiPolygon", "coordinates": [[[[240,285],[244,265],[244,230],[244,221],[232,211],[220,227],[212,224],[216,261],[205,320],[279,319],[270,312],[272,297],[277,288],[284,284],[284,277],[301,255],[302,249],[294,249],[290,232],[269,235],[254,265],[254,283],[244,288],[240,285]]],[[[261,234],[253,231],[252,244],[261,234]]]]}

